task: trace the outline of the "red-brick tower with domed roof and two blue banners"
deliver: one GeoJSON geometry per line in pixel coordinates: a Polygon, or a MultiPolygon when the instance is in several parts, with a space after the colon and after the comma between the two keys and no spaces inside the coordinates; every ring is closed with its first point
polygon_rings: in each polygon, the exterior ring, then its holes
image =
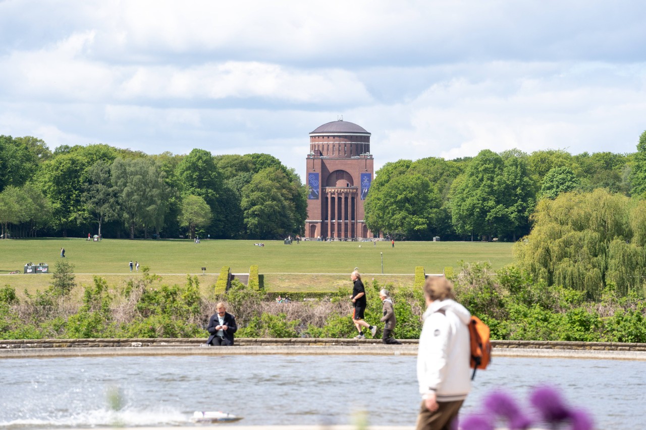
{"type": "Polygon", "coordinates": [[[364,202],[374,174],[370,133],[343,120],[318,127],[309,134],[306,170],[305,237],[371,237],[364,221],[364,202]]]}

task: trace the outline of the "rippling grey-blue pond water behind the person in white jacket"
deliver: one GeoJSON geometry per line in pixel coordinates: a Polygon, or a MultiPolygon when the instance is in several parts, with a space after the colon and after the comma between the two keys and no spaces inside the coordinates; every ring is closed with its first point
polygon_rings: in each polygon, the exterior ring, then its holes
{"type": "MultiPolygon", "coordinates": [[[[532,387],[549,384],[592,413],[599,429],[641,429],[645,371],[636,361],[499,357],[477,373],[463,413],[493,389],[527,404],[532,387]]],[[[414,356],[0,360],[0,428],[7,429],[178,425],[193,411],[241,415],[245,425],[349,424],[365,411],[373,425],[413,425],[419,402],[414,356]]]]}

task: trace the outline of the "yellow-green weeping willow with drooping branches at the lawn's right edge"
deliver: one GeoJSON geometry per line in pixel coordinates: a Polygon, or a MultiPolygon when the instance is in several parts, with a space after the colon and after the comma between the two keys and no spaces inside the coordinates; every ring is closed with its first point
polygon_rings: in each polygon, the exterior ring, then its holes
{"type": "Polygon", "coordinates": [[[537,279],[590,298],[610,285],[620,295],[643,293],[646,235],[637,224],[645,209],[604,189],[543,199],[532,215],[532,232],[514,245],[514,259],[537,279]]]}

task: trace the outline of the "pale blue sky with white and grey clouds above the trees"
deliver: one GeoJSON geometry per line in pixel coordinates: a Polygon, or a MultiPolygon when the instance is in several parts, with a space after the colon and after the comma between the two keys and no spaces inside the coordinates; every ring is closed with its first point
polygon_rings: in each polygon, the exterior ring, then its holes
{"type": "Polygon", "coordinates": [[[635,152],[646,8],[625,1],[0,0],[0,134],[266,152],[304,178],[343,118],[398,159],[635,152]]]}

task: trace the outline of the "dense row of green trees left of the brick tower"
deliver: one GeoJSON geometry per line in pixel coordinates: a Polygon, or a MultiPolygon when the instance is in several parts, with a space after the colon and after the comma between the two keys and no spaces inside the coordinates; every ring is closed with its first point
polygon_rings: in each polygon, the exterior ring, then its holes
{"type": "Polygon", "coordinates": [[[306,189],[269,154],[147,155],[0,136],[2,237],[271,239],[300,233],[306,189]]]}

